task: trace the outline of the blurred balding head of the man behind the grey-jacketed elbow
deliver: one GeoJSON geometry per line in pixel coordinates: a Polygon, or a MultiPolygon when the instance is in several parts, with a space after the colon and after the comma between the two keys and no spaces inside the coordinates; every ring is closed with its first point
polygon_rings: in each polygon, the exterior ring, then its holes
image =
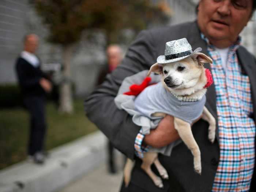
{"type": "Polygon", "coordinates": [[[121,63],[122,60],[122,50],[118,45],[109,45],[107,48],[107,57],[108,57],[108,64],[110,67],[110,71],[115,69],[117,65],[121,63]]]}

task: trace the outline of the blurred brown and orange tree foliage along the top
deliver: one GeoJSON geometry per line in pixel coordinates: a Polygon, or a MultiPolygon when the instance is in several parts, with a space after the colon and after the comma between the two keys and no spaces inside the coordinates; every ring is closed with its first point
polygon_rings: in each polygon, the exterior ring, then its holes
{"type": "Polygon", "coordinates": [[[61,45],[77,42],[86,29],[101,29],[113,42],[121,29],[139,31],[166,22],[171,13],[161,0],[35,0],[34,5],[49,29],[48,40],[61,45]]]}

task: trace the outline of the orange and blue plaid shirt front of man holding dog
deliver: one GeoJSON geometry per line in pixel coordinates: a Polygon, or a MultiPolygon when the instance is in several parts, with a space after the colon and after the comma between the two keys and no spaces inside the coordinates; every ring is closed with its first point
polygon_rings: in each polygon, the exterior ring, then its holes
{"type": "Polygon", "coordinates": [[[237,44],[230,46],[226,69],[219,53],[208,46],[213,59],[211,73],[215,84],[220,159],[212,192],[249,191],[255,164],[255,123],[249,77],[238,64],[237,44]]]}

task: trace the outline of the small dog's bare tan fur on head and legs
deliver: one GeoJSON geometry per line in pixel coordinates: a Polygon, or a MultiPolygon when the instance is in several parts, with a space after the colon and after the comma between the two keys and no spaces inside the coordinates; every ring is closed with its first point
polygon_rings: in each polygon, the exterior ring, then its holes
{"type": "MultiPolygon", "coordinates": [[[[175,70],[173,70],[173,66],[184,64],[189,70],[189,78],[188,83],[186,82],[186,76],[184,78],[184,83],[181,84],[181,86],[178,86],[176,89],[172,89],[168,87],[163,79],[165,78],[164,74],[161,72],[162,68],[159,66],[158,63],[155,63],[151,66],[150,71],[148,72],[148,76],[151,72],[157,72],[161,73],[162,78],[162,84],[168,91],[172,91],[172,93],[183,96],[186,95],[187,98],[199,98],[202,97],[206,93],[206,89],[203,87],[207,83],[207,78],[205,75],[203,63],[212,62],[212,59],[210,57],[207,57],[203,53],[195,53],[191,57],[187,57],[181,61],[173,62],[170,65],[170,69],[172,70],[172,74],[176,73],[176,75],[179,75],[175,70]],[[160,70],[161,69],[161,70],[160,70]],[[190,81],[194,81],[194,85],[189,87],[190,81]],[[183,86],[183,87],[182,87],[183,86]],[[186,87],[187,86],[187,87],[186,87]]],[[[168,64],[167,64],[168,65],[168,64]]],[[[169,74],[168,74],[169,75],[169,74]]],[[[175,75],[174,75],[175,77],[175,75]]],[[[166,114],[164,113],[154,113],[153,116],[155,117],[165,117],[166,114]]],[[[213,143],[215,139],[215,118],[211,115],[211,113],[207,110],[207,108],[204,106],[203,114],[202,114],[203,120],[206,120],[209,123],[209,133],[208,133],[208,139],[213,143]]],[[[191,125],[177,117],[174,117],[174,128],[177,129],[178,134],[180,135],[180,138],[183,140],[183,142],[187,145],[189,150],[191,150],[191,153],[194,157],[194,169],[198,174],[201,174],[202,172],[202,166],[201,166],[201,155],[200,155],[200,149],[195,141],[195,138],[193,137],[191,125]]],[[[154,172],[151,170],[151,165],[154,163],[157,167],[157,170],[161,177],[163,179],[167,179],[168,174],[165,168],[161,165],[161,163],[158,160],[158,154],[148,152],[144,154],[144,157],[142,159],[142,169],[150,176],[150,178],[153,180],[154,184],[157,185],[159,188],[163,187],[163,183],[161,178],[155,175],[154,172]]],[[[132,170],[132,161],[127,161],[127,165],[125,165],[124,170],[124,181],[125,186],[128,186],[130,178],[131,178],[131,170],[132,170]]]]}

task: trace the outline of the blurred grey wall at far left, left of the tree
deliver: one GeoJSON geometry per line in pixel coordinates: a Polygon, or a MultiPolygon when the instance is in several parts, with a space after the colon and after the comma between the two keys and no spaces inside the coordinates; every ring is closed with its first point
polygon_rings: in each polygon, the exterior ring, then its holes
{"type": "Polygon", "coordinates": [[[14,62],[26,33],[26,0],[0,1],[0,82],[15,82],[14,62]]]}

